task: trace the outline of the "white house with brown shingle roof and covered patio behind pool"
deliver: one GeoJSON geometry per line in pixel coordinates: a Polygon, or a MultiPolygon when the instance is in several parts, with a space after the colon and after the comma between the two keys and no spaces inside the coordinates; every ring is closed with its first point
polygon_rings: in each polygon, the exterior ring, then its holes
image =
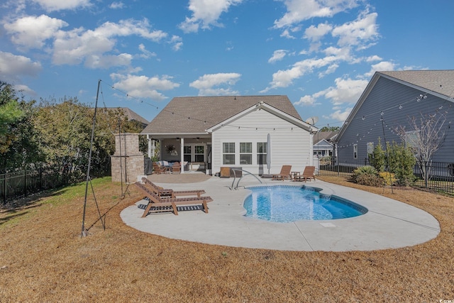
{"type": "Polygon", "coordinates": [[[301,172],[312,165],[317,131],[287,96],[221,96],[176,97],[141,134],[148,137],[149,155],[160,141],[160,160],[183,162],[185,170],[203,165],[213,175],[221,167],[242,167],[261,175],[279,173],[282,165],[301,172]]]}

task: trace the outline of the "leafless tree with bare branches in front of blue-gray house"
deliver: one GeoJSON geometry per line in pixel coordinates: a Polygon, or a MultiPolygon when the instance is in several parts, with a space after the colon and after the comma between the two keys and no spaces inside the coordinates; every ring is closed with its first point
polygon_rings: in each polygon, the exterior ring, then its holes
{"type": "Polygon", "coordinates": [[[399,135],[414,152],[425,187],[428,187],[431,176],[433,154],[441,148],[445,140],[445,121],[445,114],[436,111],[435,114],[421,114],[418,118],[410,117],[411,131],[407,131],[404,127],[399,130],[399,135]]]}

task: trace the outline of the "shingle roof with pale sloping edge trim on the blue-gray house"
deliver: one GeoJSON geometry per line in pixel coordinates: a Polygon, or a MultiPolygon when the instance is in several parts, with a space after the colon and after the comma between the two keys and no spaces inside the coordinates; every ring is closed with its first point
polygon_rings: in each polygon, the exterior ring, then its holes
{"type": "Polygon", "coordinates": [[[336,141],[338,141],[348,128],[348,121],[352,121],[356,113],[369,96],[380,77],[390,79],[402,85],[418,89],[421,92],[436,95],[442,99],[454,102],[454,70],[401,70],[391,72],[375,72],[369,84],[362,92],[360,99],[353,107],[348,118],[343,123],[336,141]]]}

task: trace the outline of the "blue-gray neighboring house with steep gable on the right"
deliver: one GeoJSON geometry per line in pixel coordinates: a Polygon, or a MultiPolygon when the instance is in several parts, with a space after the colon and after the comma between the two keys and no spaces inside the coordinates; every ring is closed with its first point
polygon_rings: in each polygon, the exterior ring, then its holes
{"type": "MultiPolygon", "coordinates": [[[[365,163],[381,138],[405,142],[414,128],[411,117],[443,114],[445,138],[434,162],[454,162],[454,70],[375,72],[336,138],[338,160],[365,163]],[[404,136],[399,130],[404,128],[404,136]]],[[[409,141],[407,141],[408,143],[409,141]]]]}

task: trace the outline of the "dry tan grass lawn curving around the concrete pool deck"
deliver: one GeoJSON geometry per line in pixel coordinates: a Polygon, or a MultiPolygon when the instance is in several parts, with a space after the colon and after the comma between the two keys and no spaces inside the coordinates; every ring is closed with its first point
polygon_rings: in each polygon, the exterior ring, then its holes
{"type": "MultiPolygon", "coordinates": [[[[0,212],[1,302],[439,302],[454,300],[453,197],[362,187],[438,219],[440,235],[376,251],[286,252],[177,241],[125,226],[120,184],[94,180],[80,237],[85,184],[0,212]],[[383,193],[384,192],[384,193],[383,193]],[[95,223],[96,222],[96,223],[95,223]]],[[[228,236],[228,235],[226,235],[228,236]]]]}

